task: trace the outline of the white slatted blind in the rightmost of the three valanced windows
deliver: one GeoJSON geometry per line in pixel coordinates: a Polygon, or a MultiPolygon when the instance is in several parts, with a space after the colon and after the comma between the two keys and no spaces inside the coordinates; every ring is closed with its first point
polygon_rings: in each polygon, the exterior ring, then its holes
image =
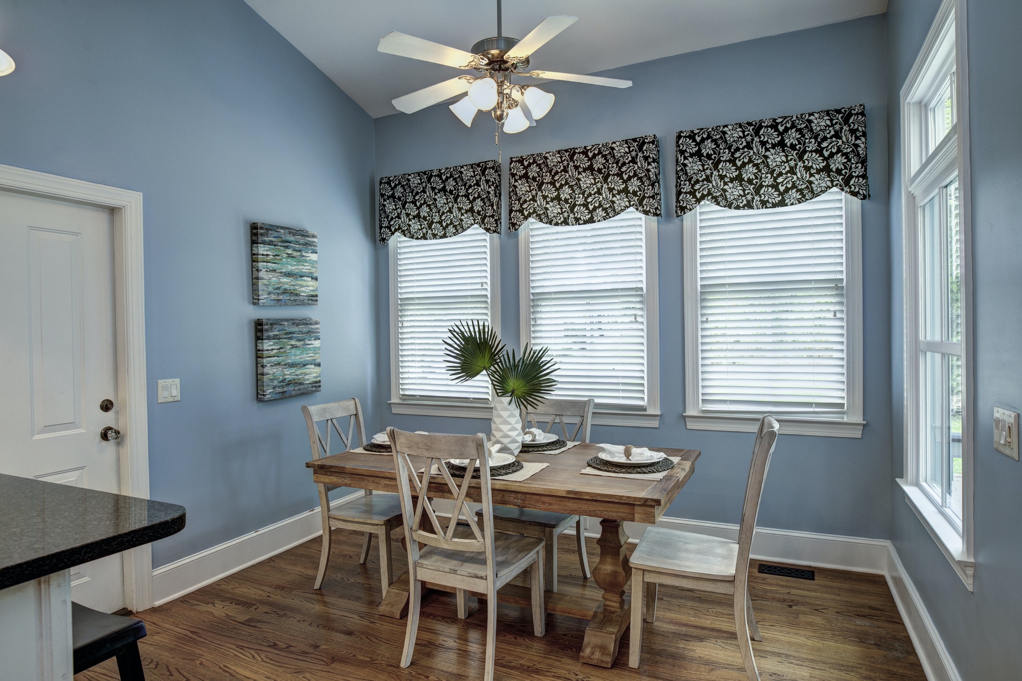
{"type": "Polygon", "coordinates": [[[697,211],[702,411],[845,417],[843,194],[697,211]]]}

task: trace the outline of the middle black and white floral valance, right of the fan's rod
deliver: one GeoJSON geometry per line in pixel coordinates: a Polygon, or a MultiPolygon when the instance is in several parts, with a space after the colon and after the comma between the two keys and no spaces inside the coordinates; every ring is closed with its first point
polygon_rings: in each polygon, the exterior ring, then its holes
{"type": "Polygon", "coordinates": [[[660,215],[660,143],[656,135],[511,158],[510,229],[529,218],[588,225],[634,208],[660,215]]]}

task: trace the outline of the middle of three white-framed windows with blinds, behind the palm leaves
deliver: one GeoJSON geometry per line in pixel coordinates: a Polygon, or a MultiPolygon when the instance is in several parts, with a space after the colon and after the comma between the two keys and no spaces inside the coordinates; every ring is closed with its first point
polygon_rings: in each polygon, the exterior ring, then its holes
{"type": "Polygon", "coordinates": [[[593,422],[660,420],[656,218],[520,230],[522,344],[557,360],[554,397],[596,400],[593,422]]]}

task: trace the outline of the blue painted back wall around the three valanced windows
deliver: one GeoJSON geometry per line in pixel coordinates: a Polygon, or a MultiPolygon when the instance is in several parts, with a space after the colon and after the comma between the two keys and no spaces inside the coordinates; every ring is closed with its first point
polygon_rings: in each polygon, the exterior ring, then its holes
{"type": "MultiPolygon", "coordinates": [[[[595,426],[600,441],[692,447],[703,452],[696,474],[670,514],[737,523],[752,437],[688,430],[684,411],[682,234],[673,216],[675,133],[687,128],[866,103],[870,187],[863,206],[865,365],[868,425],[862,440],[782,436],[766,481],[764,527],[887,537],[890,493],[890,277],[887,217],[887,93],[884,17],[874,16],[608,72],[626,90],[554,84],[557,102],[536,128],[503,136],[511,155],[655,133],[660,139],[664,215],[659,221],[660,371],[658,429],[595,426]]],[[[542,54],[542,53],[541,53],[542,54]]],[[[537,65],[542,65],[537,62],[537,65]]],[[[553,64],[556,65],[556,64],[553,64]]],[[[546,87],[546,86],[545,86],[546,87]]],[[[465,128],[446,106],[377,119],[377,177],[498,157],[494,127],[480,115],[465,128]]],[[[518,239],[501,236],[502,331],[518,342],[518,239]]],[[[388,307],[386,248],[377,247],[377,305],[388,307]]],[[[379,396],[376,425],[486,433],[489,422],[392,416],[389,328],[377,320],[379,396]]]]}

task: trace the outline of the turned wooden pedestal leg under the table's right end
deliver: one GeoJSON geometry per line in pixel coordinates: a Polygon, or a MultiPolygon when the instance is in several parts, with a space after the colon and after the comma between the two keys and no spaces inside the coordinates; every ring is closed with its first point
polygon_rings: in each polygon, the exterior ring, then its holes
{"type": "Polygon", "coordinates": [[[600,562],[593,571],[593,579],[603,589],[603,601],[586,627],[586,639],[582,644],[578,660],[598,667],[611,667],[617,656],[621,634],[629,626],[632,609],[624,595],[632,576],[624,543],[628,535],[620,520],[600,520],[602,532],[597,544],[600,546],[600,562]]]}

